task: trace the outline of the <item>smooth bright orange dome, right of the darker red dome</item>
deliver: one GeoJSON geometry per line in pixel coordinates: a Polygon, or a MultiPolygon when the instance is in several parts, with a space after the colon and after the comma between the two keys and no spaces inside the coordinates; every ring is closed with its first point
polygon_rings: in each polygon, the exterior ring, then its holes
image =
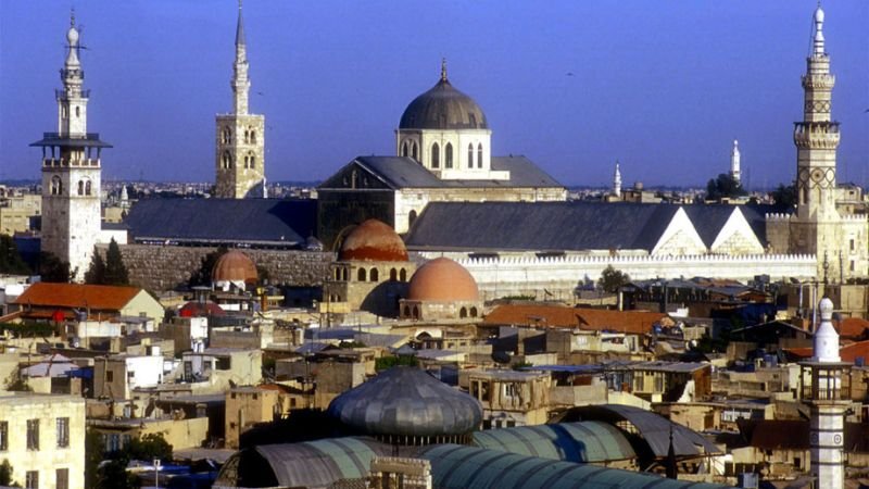
{"type": "Polygon", "coordinates": [[[458,263],[439,258],[426,262],[411,278],[407,299],[415,301],[477,301],[477,280],[458,263]]]}

